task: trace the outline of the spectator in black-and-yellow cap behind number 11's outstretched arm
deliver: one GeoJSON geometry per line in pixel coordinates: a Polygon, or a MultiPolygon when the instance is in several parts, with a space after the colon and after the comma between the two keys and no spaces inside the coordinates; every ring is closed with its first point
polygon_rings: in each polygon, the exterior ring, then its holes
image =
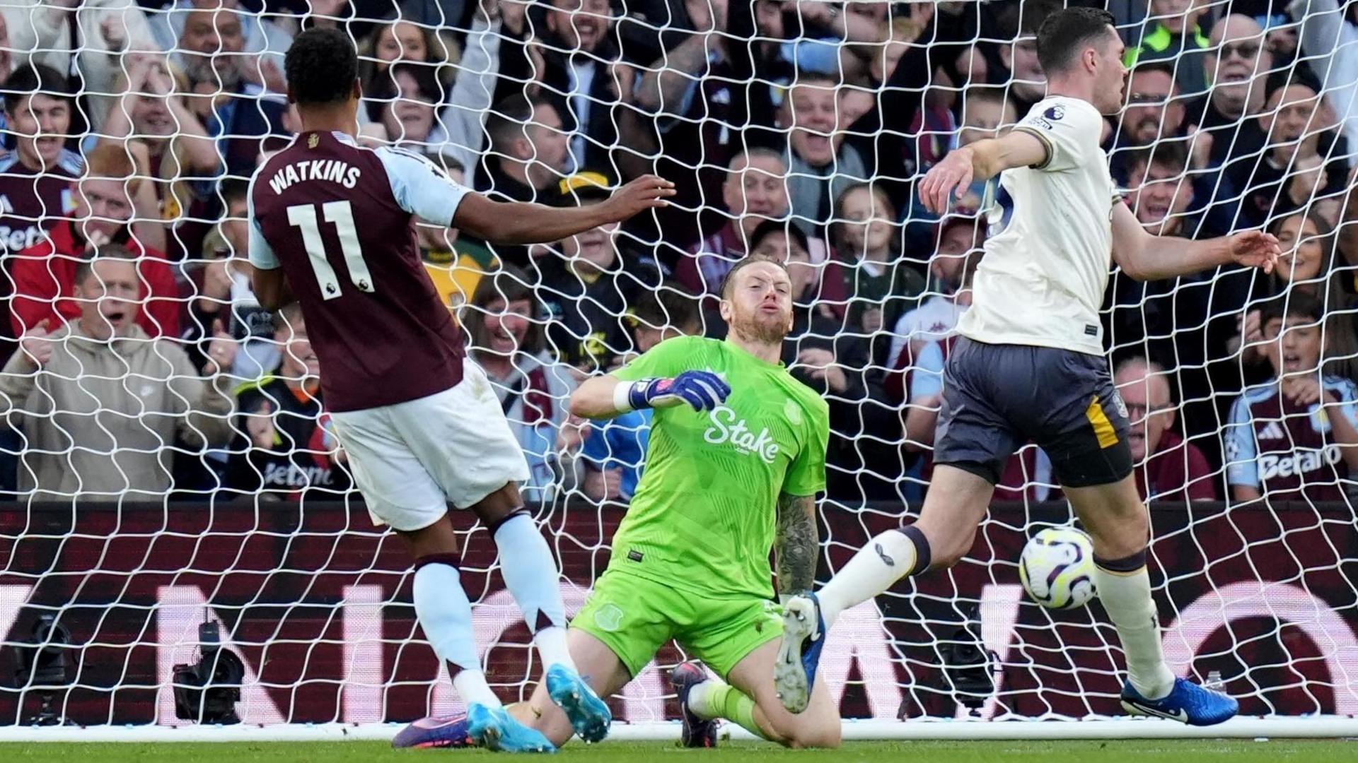
{"type": "MultiPolygon", "coordinates": [[[[610,193],[602,172],[579,172],[557,183],[554,204],[599,204],[610,193]]],[[[664,277],[650,255],[626,240],[618,224],[600,225],[558,242],[535,261],[536,296],[550,316],[547,346],[558,361],[587,373],[607,371],[618,354],[633,350],[627,311],[640,292],[664,277]]]]}

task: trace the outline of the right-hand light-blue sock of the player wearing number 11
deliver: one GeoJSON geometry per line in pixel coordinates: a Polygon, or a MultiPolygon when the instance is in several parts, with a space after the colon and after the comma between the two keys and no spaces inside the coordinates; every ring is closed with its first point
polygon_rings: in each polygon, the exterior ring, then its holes
{"type": "Polygon", "coordinates": [[[576,664],[566,649],[561,576],[536,523],[527,513],[509,517],[496,528],[496,548],[500,550],[500,574],[505,578],[505,588],[519,603],[543,664],[559,664],[574,671],[576,664]]]}

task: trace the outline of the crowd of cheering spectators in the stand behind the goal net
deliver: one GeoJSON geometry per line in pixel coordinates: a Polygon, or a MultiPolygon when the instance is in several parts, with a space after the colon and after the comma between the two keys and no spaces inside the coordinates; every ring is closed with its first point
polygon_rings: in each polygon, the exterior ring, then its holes
{"type": "MultiPolygon", "coordinates": [[[[646,415],[584,422],[566,398],[665,337],[721,337],[721,281],[760,254],[794,286],[784,361],[830,402],[830,498],[917,501],[995,186],[933,219],[914,181],[1043,98],[1033,34],[1061,5],[0,3],[0,490],[352,490],[301,315],[259,307],[244,251],[247,179],[299,126],[281,56],[315,24],[357,43],[365,145],[422,152],[496,198],[595,204],[641,172],[678,185],[663,210],[555,244],[417,225],[531,500],[631,496],[646,415]]],[[[1107,5],[1130,75],[1103,141],[1138,220],[1184,238],[1266,228],[1285,250],[1270,276],[1114,273],[1103,335],[1138,486],[1342,498],[1358,468],[1358,4],[1107,5]]],[[[1055,498],[1050,482],[1029,444],[998,497],[1055,498]]]]}

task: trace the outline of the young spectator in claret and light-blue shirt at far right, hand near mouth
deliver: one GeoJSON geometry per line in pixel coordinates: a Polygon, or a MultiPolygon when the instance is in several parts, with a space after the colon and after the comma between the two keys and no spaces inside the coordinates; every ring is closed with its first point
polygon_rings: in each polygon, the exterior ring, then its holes
{"type": "Polygon", "coordinates": [[[1342,501],[1358,474],[1358,384],[1321,373],[1324,308],[1296,289],[1260,316],[1267,384],[1230,407],[1226,482],[1236,501],[1342,501]],[[1351,483],[1350,483],[1351,485],[1351,483]]]}

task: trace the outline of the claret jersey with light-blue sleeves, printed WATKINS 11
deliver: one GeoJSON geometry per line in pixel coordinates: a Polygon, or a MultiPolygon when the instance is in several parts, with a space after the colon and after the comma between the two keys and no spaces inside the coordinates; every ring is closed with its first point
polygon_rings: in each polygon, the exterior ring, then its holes
{"type": "Polygon", "coordinates": [[[420,258],[413,216],[449,225],[467,189],[428,159],[301,133],[250,181],[250,262],[282,267],[331,411],[425,398],[462,380],[462,333],[420,258]]]}

